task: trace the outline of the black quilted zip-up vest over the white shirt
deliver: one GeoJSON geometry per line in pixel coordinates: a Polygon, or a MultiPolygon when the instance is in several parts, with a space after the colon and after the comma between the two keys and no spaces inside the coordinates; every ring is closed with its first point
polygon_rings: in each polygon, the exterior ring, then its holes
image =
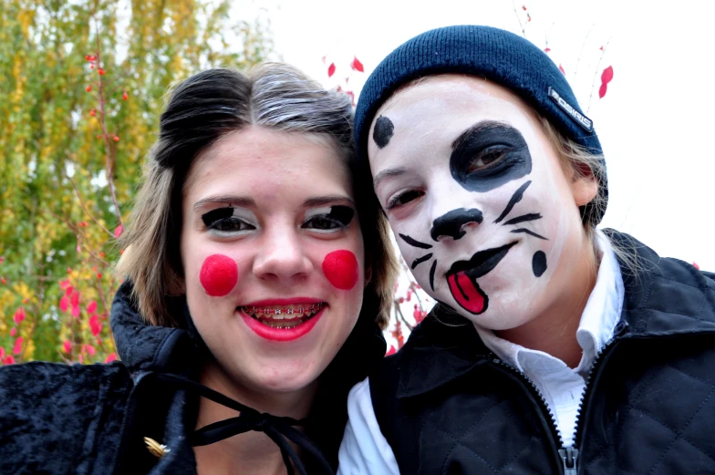
{"type": "Polygon", "coordinates": [[[624,276],[622,319],[587,380],[574,446],[472,325],[433,313],[370,376],[402,475],[715,473],[715,275],[609,234],[645,269],[624,276]]]}

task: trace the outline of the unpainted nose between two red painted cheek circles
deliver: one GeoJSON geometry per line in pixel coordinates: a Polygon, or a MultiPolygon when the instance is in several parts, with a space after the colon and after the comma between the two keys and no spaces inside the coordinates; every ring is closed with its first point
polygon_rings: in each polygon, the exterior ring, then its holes
{"type": "Polygon", "coordinates": [[[259,279],[294,284],[305,279],[313,263],[305,253],[300,236],[289,227],[275,229],[264,235],[253,272],[259,279]]]}

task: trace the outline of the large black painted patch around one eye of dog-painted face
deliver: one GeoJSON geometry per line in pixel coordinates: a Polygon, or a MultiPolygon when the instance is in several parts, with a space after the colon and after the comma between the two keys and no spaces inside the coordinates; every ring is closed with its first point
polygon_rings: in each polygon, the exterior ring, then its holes
{"type": "Polygon", "coordinates": [[[502,122],[479,122],[454,140],[451,148],[451,176],[468,191],[491,191],[532,171],[522,134],[502,122]]]}

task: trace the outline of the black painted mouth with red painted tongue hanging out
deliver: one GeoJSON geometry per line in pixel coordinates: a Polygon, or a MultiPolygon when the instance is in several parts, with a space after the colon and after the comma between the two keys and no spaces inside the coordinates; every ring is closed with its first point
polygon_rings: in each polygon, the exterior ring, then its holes
{"type": "Polygon", "coordinates": [[[458,261],[447,272],[447,284],[452,298],[473,315],[484,313],[489,297],[477,284],[477,279],[492,272],[516,242],[474,253],[469,261],[458,261]]]}

